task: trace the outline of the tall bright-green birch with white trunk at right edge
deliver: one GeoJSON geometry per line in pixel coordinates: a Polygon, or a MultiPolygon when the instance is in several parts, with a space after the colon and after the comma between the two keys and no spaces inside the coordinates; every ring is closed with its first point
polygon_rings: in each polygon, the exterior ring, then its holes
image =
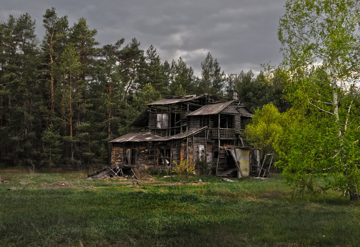
{"type": "Polygon", "coordinates": [[[360,2],[288,0],[285,7],[278,36],[295,120],[284,141],[284,172],[308,191],[327,173],[332,179],[324,190],[340,189],[357,200],[360,2]]]}

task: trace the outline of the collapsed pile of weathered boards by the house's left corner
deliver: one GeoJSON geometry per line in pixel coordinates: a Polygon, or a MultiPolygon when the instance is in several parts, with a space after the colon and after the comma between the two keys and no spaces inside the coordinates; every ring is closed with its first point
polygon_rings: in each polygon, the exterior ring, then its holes
{"type": "Polygon", "coordinates": [[[96,171],[93,174],[90,174],[86,177],[86,179],[103,179],[103,178],[113,178],[113,177],[131,177],[136,178],[134,170],[130,166],[104,166],[101,170],[96,171]]]}

